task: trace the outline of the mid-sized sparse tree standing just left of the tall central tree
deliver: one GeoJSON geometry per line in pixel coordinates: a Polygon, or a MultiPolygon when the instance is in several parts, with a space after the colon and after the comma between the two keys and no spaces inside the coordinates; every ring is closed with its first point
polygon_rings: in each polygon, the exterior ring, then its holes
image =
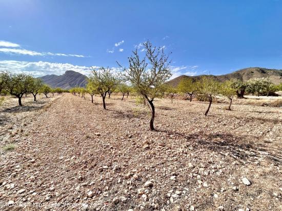
{"type": "Polygon", "coordinates": [[[97,91],[103,99],[103,108],[106,109],[105,98],[107,93],[120,83],[120,78],[118,75],[113,74],[109,67],[106,68],[102,66],[98,69],[91,68],[92,71],[89,76],[89,81],[94,87],[97,87],[97,91]]]}

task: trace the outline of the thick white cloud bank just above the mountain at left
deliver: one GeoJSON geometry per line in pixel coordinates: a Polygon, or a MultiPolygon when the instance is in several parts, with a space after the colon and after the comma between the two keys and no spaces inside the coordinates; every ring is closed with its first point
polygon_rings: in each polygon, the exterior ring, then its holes
{"type": "MultiPolygon", "coordinates": [[[[94,66],[97,67],[97,66],[94,66]]],[[[0,69],[11,71],[12,73],[27,73],[32,74],[34,77],[44,75],[62,75],[66,71],[76,71],[78,73],[88,75],[90,67],[78,66],[69,63],[51,63],[51,62],[26,62],[26,61],[13,61],[4,60],[0,61],[0,69]]]]}

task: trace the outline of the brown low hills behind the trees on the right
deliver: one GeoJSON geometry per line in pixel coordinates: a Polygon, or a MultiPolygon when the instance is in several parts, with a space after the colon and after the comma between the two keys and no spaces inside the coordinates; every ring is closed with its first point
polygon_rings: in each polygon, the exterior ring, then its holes
{"type": "MultiPolygon", "coordinates": [[[[178,76],[167,83],[171,86],[177,86],[179,82],[183,78],[192,78],[194,80],[198,80],[201,76],[208,76],[208,75],[200,75],[200,76],[178,76]]],[[[272,83],[279,84],[282,83],[282,70],[281,69],[267,69],[261,67],[249,67],[245,69],[240,69],[239,71],[235,71],[233,73],[225,74],[225,75],[209,75],[213,77],[217,81],[227,81],[231,79],[240,79],[243,81],[248,81],[251,78],[269,78],[272,83]]]]}

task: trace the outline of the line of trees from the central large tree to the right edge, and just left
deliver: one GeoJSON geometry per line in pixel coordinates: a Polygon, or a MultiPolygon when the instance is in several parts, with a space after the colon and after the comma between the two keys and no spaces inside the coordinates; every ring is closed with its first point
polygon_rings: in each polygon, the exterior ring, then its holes
{"type": "MultiPolygon", "coordinates": [[[[186,93],[190,97],[190,101],[197,94],[198,97],[204,97],[209,101],[205,115],[208,114],[214,96],[223,95],[230,100],[229,108],[234,96],[244,98],[245,91],[262,95],[276,90],[276,87],[269,79],[251,79],[248,82],[239,80],[226,81],[220,83],[214,78],[206,76],[201,77],[198,81],[185,79],[180,82],[178,87],[174,88],[166,84],[171,77],[171,69],[169,55],[164,53],[163,48],[152,46],[150,41],[144,43],[145,56],[143,58],[138,54],[137,49],[133,51],[133,55],[128,58],[128,66],[124,67],[118,63],[123,69],[121,73],[111,71],[110,68],[100,67],[92,68],[86,89],[74,88],[70,90],[73,95],[80,93],[84,97],[85,93],[89,93],[92,98],[98,94],[103,99],[103,107],[106,109],[105,99],[107,94],[114,91],[120,92],[124,96],[134,91],[137,95],[142,96],[145,104],[151,111],[150,129],[154,130],[155,106],[154,99],[168,95],[171,99],[177,93],[186,93]]],[[[122,98],[122,99],[123,99],[122,98]]]]}

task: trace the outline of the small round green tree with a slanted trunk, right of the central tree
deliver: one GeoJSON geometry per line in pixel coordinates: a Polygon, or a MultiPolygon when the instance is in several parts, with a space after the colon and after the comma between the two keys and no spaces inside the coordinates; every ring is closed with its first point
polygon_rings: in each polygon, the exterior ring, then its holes
{"type": "Polygon", "coordinates": [[[197,81],[197,90],[209,99],[209,106],[205,112],[206,116],[210,110],[213,96],[217,95],[220,91],[220,83],[212,77],[203,76],[199,81],[197,81]]]}

